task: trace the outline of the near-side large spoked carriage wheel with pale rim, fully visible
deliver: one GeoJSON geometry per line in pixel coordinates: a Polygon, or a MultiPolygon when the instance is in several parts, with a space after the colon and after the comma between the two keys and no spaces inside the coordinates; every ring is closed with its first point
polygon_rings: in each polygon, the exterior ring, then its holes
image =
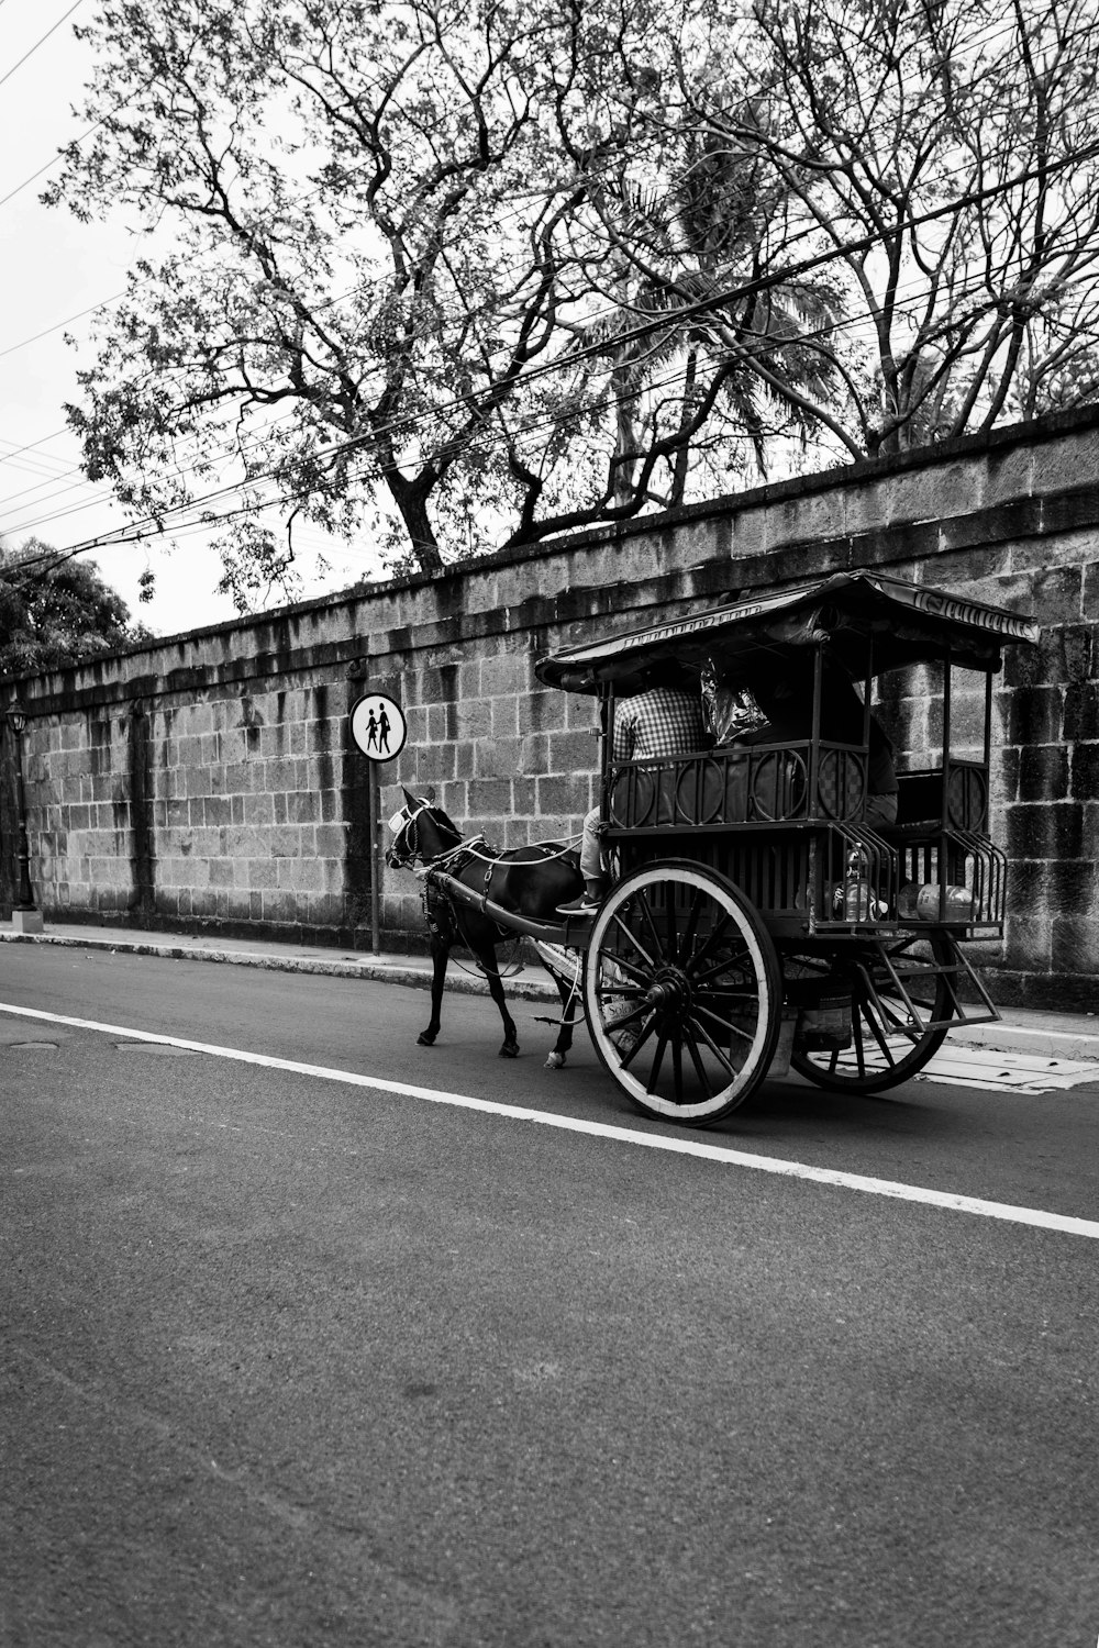
{"type": "Polygon", "coordinates": [[[707,1127],[768,1073],[783,1015],[771,936],[713,870],[669,859],[606,898],[583,1000],[595,1050],[638,1109],[707,1127]]]}

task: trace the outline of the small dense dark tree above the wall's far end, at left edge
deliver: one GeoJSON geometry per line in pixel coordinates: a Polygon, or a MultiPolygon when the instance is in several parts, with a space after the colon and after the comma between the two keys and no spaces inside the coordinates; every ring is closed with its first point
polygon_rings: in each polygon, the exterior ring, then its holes
{"type": "Polygon", "coordinates": [[[36,539],[0,542],[0,676],[58,669],[150,639],[94,560],[56,555],[36,539]]]}

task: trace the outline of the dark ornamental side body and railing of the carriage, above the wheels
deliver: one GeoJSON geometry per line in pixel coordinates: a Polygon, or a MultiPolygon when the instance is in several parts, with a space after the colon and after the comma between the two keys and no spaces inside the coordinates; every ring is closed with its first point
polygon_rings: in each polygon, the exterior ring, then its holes
{"type": "Polygon", "coordinates": [[[1005,859],[984,834],[987,766],[947,758],[901,775],[906,822],[880,831],[862,821],[865,788],[865,748],[827,742],[816,763],[809,742],[620,761],[606,839],[626,867],[689,850],[741,887],[779,936],[883,926],[1000,936],[1005,859]]]}

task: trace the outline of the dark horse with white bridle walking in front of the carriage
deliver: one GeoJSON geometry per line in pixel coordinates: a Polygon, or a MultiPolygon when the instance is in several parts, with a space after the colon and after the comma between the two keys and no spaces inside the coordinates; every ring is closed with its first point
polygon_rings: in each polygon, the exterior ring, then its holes
{"type": "MultiPolygon", "coordinates": [[[[405,804],[389,821],[394,832],[386,849],[390,870],[405,870],[414,864],[428,868],[445,868],[448,875],[484,893],[493,903],[529,921],[557,921],[557,905],[583,892],[583,877],[577,854],[560,842],[544,842],[532,847],[516,847],[496,852],[483,837],[466,840],[458,826],[428,796],[414,796],[404,784],[405,804]]],[[[440,1027],[447,962],[455,941],[461,941],[478,959],[488,979],[499,1015],[504,1023],[501,1058],[517,1058],[519,1037],[516,1022],[507,1012],[504,986],[496,962],[496,944],[507,931],[491,916],[465,905],[455,905],[445,893],[435,893],[428,883],[423,900],[432,948],[432,1017],[417,1037],[420,1046],[433,1046],[440,1027]]],[[[572,1028],[578,1005],[575,979],[567,979],[552,967],[539,949],[539,959],[557,986],[562,1000],[562,1018],[557,1042],[545,1060],[547,1070],[560,1070],[572,1046],[572,1028]]]]}

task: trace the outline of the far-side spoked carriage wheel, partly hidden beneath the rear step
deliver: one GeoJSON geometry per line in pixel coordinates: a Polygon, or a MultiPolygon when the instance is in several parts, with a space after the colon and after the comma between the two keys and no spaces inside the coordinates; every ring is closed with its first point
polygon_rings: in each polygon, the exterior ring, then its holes
{"type": "MultiPolygon", "coordinates": [[[[916,943],[921,941],[910,936],[885,944],[896,977],[880,957],[867,957],[862,969],[844,971],[842,979],[852,989],[850,1046],[812,1053],[794,1050],[791,1065],[801,1076],[839,1093],[883,1093],[908,1081],[934,1058],[949,1033],[944,1020],[952,1010],[949,981],[936,969],[954,962],[954,946],[946,933],[933,933],[926,941],[931,956],[926,957],[911,953],[916,943]]],[[[784,976],[788,981],[839,977],[830,961],[811,956],[788,957],[784,976]]]]}

